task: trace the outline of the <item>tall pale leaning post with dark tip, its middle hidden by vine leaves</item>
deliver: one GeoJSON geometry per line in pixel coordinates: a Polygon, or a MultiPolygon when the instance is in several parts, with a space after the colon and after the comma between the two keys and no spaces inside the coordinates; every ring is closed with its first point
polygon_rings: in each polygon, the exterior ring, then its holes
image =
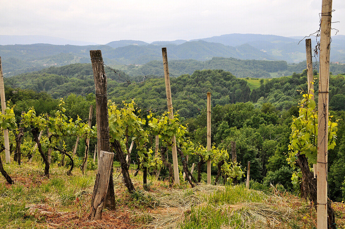
{"type": "MultiPolygon", "coordinates": [[[[165,90],[167,93],[169,119],[174,119],[174,113],[172,112],[172,100],[171,100],[171,88],[170,88],[167,48],[162,48],[162,55],[163,55],[165,90]]],[[[174,165],[174,184],[179,185],[180,184],[180,177],[179,177],[179,172],[178,172],[178,161],[177,161],[177,149],[176,149],[175,135],[172,136],[171,141],[172,141],[172,146],[171,146],[172,164],[174,165]]]]}

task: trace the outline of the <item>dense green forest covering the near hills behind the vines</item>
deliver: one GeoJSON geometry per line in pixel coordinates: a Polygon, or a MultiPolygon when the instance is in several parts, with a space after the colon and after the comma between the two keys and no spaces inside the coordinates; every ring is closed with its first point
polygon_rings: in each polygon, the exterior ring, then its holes
{"type": "MultiPolygon", "coordinates": [[[[252,62],[254,63],[259,65],[261,62],[252,62]]],[[[124,78],[119,79],[115,72],[109,69],[106,71],[110,78],[110,100],[120,104],[122,100],[134,98],[144,117],[150,112],[160,114],[166,111],[163,79],[145,79],[143,83],[128,84],[123,82],[124,79],[135,82],[135,77],[119,72],[124,78]]],[[[293,168],[286,158],[289,154],[290,126],[293,117],[298,116],[300,90],[307,88],[306,71],[260,80],[260,86],[252,91],[245,79],[239,79],[223,70],[198,70],[191,75],[171,76],[170,80],[174,110],[181,121],[188,125],[188,136],[193,142],[206,145],[206,92],[210,91],[212,142],[216,147],[229,150],[230,141],[235,140],[240,164],[245,166],[247,161],[251,161],[251,178],[253,182],[257,182],[255,185],[265,188],[270,183],[281,184],[288,191],[298,192],[298,185],[294,186],[291,182],[293,168]]],[[[7,100],[16,105],[14,112],[17,120],[21,111],[27,111],[31,106],[36,108],[37,113],[53,114],[60,97],[65,98],[65,106],[69,112],[67,115],[73,118],[79,115],[86,120],[89,105],[95,104],[92,69],[89,64],[51,67],[21,74],[10,77],[5,85],[7,100]]],[[[317,85],[316,79],[315,90],[317,85]]],[[[332,187],[331,198],[340,201],[345,199],[344,75],[331,76],[329,91],[330,112],[334,120],[338,119],[338,137],[336,147],[329,150],[328,177],[329,186],[332,187]]],[[[317,96],[315,100],[317,101],[317,96]]],[[[74,143],[73,138],[66,142],[70,147],[74,143]]],[[[91,145],[94,144],[95,142],[91,142],[91,145]]],[[[83,155],[82,148],[78,150],[80,156],[83,155]]],[[[197,158],[191,158],[189,162],[191,164],[196,160],[197,158]]],[[[213,173],[216,173],[216,167],[213,167],[213,173]]],[[[162,171],[162,176],[166,174],[166,171],[162,171]]]]}

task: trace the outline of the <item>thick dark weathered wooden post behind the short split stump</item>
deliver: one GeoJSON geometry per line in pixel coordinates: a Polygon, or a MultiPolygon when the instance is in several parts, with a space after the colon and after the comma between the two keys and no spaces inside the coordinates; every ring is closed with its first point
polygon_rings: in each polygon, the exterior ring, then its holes
{"type": "MultiPolygon", "coordinates": [[[[103,58],[101,50],[90,50],[91,64],[93,70],[93,79],[95,80],[96,92],[96,123],[97,123],[97,148],[109,152],[109,117],[108,117],[108,97],[107,97],[107,75],[104,71],[103,58]]],[[[99,159],[101,157],[99,156],[99,159]]],[[[109,186],[105,207],[115,209],[114,181],[112,177],[113,166],[111,164],[109,186]]],[[[96,183],[95,183],[96,187],[96,183]]],[[[95,193],[93,194],[95,195],[95,193]]]]}

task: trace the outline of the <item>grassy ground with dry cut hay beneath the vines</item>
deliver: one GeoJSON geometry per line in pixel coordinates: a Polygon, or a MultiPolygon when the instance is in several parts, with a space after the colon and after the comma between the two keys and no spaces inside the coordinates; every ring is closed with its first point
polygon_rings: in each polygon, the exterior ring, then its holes
{"type": "MultiPolygon", "coordinates": [[[[237,186],[186,183],[169,187],[153,177],[142,189],[142,176],[133,178],[137,191],[129,195],[119,171],[114,173],[116,211],[87,220],[95,171],[82,175],[52,167],[42,176],[40,163],[4,165],[16,184],[0,180],[0,228],[313,228],[316,212],[304,200],[272,187],[269,191],[237,186]]],[[[133,172],[131,173],[133,176],[133,172]]],[[[254,185],[254,183],[253,183],[254,185]]],[[[345,226],[344,204],[334,203],[337,225],[345,226]]]]}

